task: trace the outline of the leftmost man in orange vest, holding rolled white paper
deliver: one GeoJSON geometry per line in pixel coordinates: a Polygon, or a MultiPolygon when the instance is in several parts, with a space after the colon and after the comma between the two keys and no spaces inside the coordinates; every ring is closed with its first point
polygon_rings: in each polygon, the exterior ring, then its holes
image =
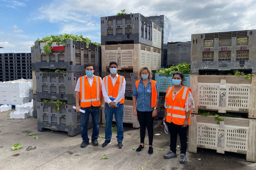
{"type": "Polygon", "coordinates": [[[104,98],[102,96],[102,79],[99,76],[94,75],[94,65],[85,65],[86,75],[79,77],[76,83],[76,111],[79,109],[85,111],[80,113],[81,117],[81,136],[83,142],[81,148],[85,148],[89,144],[88,138],[88,121],[89,116],[92,116],[92,145],[98,146],[99,135],[99,119],[100,109],[104,107],[104,98]],[[80,101],[80,104],[79,104],[80,101]]]}

